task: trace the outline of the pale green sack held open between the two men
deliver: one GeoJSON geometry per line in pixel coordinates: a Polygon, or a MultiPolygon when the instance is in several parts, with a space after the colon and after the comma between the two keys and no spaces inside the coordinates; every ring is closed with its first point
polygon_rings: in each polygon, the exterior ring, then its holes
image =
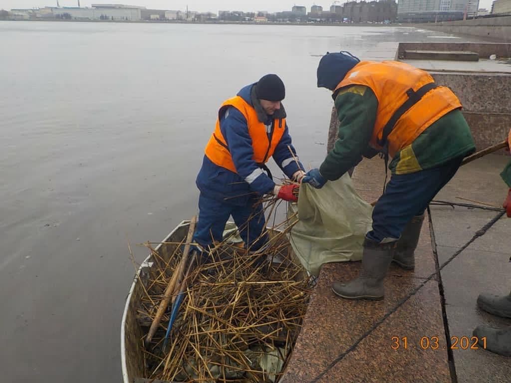
{"type": "Polygon", "coordinates": [[[318,276],[324,263],[362,259],[373,207],[357,194],[349,174],[321,189],[302,184],[298,203],[289,204],[289,213],[296,211],[289,242],[309,273],[318,276]]]}

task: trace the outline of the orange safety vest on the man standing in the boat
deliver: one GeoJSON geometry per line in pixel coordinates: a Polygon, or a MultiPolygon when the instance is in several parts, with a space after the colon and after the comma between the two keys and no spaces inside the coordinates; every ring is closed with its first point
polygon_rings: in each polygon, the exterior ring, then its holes
{"type": "Polygon", "coordinates": [[[207,142],[206,148],[204,150],[207,158],[209,158],[216,165],[225,167],[225,169],[237,173],[233,157],[229,152],[227,142],[222,135],[222,131],[220,130],[220,117],[225,112],[225,109],[229,106],[234,106],[245,116],[248,126],[248,134],[250,135],[250,138],[252,138],[252,159],[259,165],[265,164],[273,155],[278,142],[281,140],[282,135],[284,134],[286,118],[275,118],[273,120],[270,141],[266,132],[266,125],[259,121],[255,109],[240,96],[236,96],[225,101],[220,107],[220,110],[218,111],[217,126],[215,128],[215,132],[207,142]]]}

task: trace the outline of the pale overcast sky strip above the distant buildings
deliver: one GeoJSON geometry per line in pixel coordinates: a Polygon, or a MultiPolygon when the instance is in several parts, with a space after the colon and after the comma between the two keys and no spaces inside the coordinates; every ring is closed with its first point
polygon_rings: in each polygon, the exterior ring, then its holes
{"type": "MultiPolygon", "coordinates": [[[[317,0],[315,3],[312,0],[305,2],[293,1],[293,0],[251,0],[251,1],[236,1],[236,0],[126,0],[126,1],[107,1],[107,0],[96,0],[88,1],[81,0],[80,5],[82,7],[89,7],[90,4],[129,4],[139,5],[146,8],[153,9],[169,9],[169,10],[184,10],[188,5],[188,9],[191,11],[206,12],[211,11],[217,13],[219,10],[231,10],[231,11],[268,11],[268,12],[280,12],[290,11],[293,5],[303,5],[307,7],[307,11],[310,11],[311,5],[317,4],[323,7],[323,9],[329,9],[332,5],[331,0],[317,0]]],[[[344,1],[339,2],[340,4],[344,1]]],[[[0,0],[0,9],[12,9],[12,8],[33,8],[33,7],[45,7],[45,6],[56,6],[57,0],[0,0]]],[[[73,7],[77,5],[77,0],[59,0],[61,7],[73,7]]],[[[492,8],[492,0],[480,0],[479,8],[492,8]]]]}

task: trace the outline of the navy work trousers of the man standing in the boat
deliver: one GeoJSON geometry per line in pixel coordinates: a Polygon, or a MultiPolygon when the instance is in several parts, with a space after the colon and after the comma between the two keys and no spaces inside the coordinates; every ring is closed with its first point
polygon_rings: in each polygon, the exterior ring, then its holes
{"type": "Polygon", "coordinates": [[[267,241],[267,235],[259,238],[266,228],[262,204],[255,198],[248,199],[244,205],[231,204],[199,195],[199,217],[193,239],[204,248],[213,241],[222,242],[223,231],[229,216],[240,230],[240,236],[250,251],[259,250],[267,241]],[[258,240],[259,238],[259,240],[258,240]]]}

